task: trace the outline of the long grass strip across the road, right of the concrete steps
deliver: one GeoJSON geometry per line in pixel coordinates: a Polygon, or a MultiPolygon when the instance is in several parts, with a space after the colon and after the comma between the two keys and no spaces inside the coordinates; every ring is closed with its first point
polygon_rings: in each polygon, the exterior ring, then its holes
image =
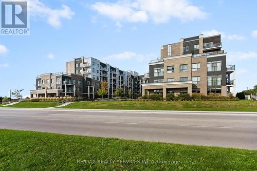
{"type": "Polygon", "coordinates": [[[134,109],[134,110],[201,110],[201,111],[257,111],[257,102],[240,101],[107,101],[77,102],[63,108],[134,109]]]}

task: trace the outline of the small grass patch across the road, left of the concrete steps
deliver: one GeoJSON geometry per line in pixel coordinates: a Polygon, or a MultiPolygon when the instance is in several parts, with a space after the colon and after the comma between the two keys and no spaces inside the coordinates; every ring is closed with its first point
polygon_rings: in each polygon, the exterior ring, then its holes
{"type": "Polygon", "coordinates": [[[28,107],[28,108],[46,108],[57,106],[56,102],[20,102],[10,106],[2,107],[28,107]]]}

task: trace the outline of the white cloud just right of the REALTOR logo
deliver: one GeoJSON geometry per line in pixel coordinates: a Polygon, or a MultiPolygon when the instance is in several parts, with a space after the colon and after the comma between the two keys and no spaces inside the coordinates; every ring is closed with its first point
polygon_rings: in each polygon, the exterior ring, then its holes
{"type": "Polygon", "coordinates": [[[30,0],[28,9],[32,16],[46,18],[48,24],[56,28],[62,25],[62,18],[70,20],[72,15],[74,15],[74,12],[66,5],[62,5],[61,9],[51,9],[39,2],[39,0],[30,0]]]}

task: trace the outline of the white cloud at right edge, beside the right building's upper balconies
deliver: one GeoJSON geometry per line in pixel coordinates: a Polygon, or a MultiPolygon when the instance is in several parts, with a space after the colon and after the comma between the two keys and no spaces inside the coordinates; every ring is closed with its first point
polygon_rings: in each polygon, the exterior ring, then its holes
{"type": "Polygon", "coordinates": [[[257,60],[256,52],[228,52],[227,60],[229,62],[233,61],[244,61],[244,60],[257,60]]]}

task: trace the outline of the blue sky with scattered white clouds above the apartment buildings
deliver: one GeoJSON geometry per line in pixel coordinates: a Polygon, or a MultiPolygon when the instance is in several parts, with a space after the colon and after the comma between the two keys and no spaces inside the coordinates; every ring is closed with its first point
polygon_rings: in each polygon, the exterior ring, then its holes
{"type": "Polygon", "coordinates": [[[122,70],[147,73],[162,45],[222,34],[236,91],[257,84],[257,1],[28,1],[30,35],[0,36],[0,97],[35,77],[65,71],[65,62],[93,57],[122,70]]]}

